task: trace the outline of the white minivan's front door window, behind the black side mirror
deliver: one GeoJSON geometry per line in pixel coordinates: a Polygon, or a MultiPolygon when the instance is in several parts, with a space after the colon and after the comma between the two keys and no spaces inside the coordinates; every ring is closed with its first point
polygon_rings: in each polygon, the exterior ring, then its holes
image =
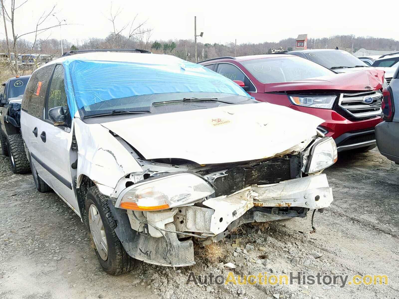
{"type": "Polygon", "coordinates": [[[56,65],[53,77],[50,83],[49,94],[47,98],[47,105],[45,109],[45,119],[50,120],[48,112],[52,108],[63,107],[66,115],[65,124],[71,128],[71,115],[68,111],[67,94],[64,85],[64,68],[62,65],[56,65]]]}

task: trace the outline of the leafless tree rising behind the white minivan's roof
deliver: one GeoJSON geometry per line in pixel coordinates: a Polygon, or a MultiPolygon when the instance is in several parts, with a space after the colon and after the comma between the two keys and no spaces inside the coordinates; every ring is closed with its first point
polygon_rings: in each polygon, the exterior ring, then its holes
{"type": "MultiPolygon", "coordinates": [[[[114,49],[116,48],[123,48],[126,49],[126,46],[128,45],[129,41],[132,39],[139,40],[139,39],[144,39],[144,35],[148,32],[151,32],[152,29],[146,28],[144,29],[143,26],[146,24],[147,20],[144,22],[138,22],[136,23],[136,16],[134,16],[133,20],[124,24],[122,27],[118,28],[116,25],[116,19],[122,12],[122,8],[118,8],[116,12],[113,12],[112,9],[112,2],[111,2],[111,10],[110,10],[110,17],[108,20],[112,23],[112,28],[113,30],[110,32],[109,38],[107,39],[106,43],[111,42],[111,45],[114,49]],[[124,30],[129,28],[128,34],[126,36],[123,35],[124,30]]],[[[149,35],[148,40],[146,41],[149,43],[149,38],[151,35],[149,35]]]]}

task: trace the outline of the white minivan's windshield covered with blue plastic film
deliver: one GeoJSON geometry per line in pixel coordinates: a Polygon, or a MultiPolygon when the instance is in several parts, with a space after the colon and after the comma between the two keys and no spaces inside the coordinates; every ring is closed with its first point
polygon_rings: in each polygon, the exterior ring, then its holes
{"type": "Polygon", "coordinates": [[[223,98],[229,94],[237,96],[232,101],[251,98],[226,77],[177,57],[113,54],[109,57],[134,61],[75,60],[72,57],[73,60],[64,63],[71,115],[75,111],[81,116],[113,110],[137,111],[153,102],[192,97],[223,98]]]}

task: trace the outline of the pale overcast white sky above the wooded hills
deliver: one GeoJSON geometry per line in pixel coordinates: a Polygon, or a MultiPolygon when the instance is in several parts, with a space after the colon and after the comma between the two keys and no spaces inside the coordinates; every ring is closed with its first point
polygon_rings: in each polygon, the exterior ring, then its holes
{"type": "MultiPolygon", "coordinates": [[[[16,6],[24,1],[16,0],[16,6]]],[[[4,0],[6,7],[9,2],[4,0]]],[[[77,24],[62,28],[63,39],[74,42],[88,37],[103,38],[112,30],[108,20],[111,1],[28,0],[16,10],[16,33],[34,30],[43,11],[55,3],[58,19],[77,24]]],[[[237,44],[279,41],[304,33],[312,38],[354,34],[399,40],[399,1],[391,1],[388,6],[389,9],[384,6],[379,10],[378,2],[368,0],[112,1],[114,12],[122,9],[116,19],[117,28],[138,14],[136,23],[147,20],[146,27],[153,29],[152,40],[194,39],[194,16],[197,16],[197,34],[204,32],[199,37],[201,42],[229,43],[237,39],[237,44]]],[[[50,16],[42,26],[55,24],[57,20],[50,16]]],[[[0,33],[4,38],[4,29],[0,33]]],[[[25,37],[34,39],[33,34],[25,37]]],[[[54,28],[40,37],[59,39],[60,30],[54,28]]]]}

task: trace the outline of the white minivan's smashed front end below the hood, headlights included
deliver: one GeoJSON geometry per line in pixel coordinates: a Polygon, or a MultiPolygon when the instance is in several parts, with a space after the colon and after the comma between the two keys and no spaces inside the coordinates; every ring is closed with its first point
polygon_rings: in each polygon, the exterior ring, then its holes
{"type": "Polygon", "coordinates": [[[124,249],[150,264],[195,264],[193,242],[218,242],[243,223],[305,217],[333,201],[320,173],[337,150],[322,134],[253,161],[199,165],[133,155],[143,171],[121,179],[109,201],[124,249]]]}

